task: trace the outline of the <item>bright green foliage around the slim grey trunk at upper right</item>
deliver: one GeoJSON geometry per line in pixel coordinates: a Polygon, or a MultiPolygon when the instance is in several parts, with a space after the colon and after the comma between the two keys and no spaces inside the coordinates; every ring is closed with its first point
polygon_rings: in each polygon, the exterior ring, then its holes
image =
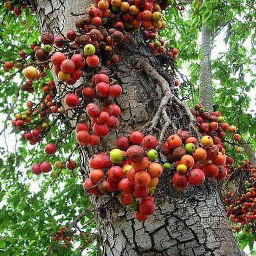
{"type": "MultiPolygon", "coordinates": [[[[212,60],[213,102],[225,113],[227,121],[246,131],[243,135],[255,149],[255,119],[247,111],[250,104],[248,92],[255,87],[255,18],[251,15],[255,12],[254,2],[193,1],[191,5],[187,5],[187,1],[181,2],[185,2],[186,13],[167,9],[165,15],[170,22],[161,33],[168,38],[167,45],[179,48],[178,66],[186,61],[189,63],[189,82],[195,84],[199,81],[199,67],[205,56],[200,43],[197,44],[201,21],[211,31],[212,47],[225,42],[227,51],[212,60]],[[175,34],[180,36],[175,37],[175,34]]],[[[205,51],[207,54],[209,49],[205,51]]],[[[193,103],[198,98],[196,91],[193,103]]]]}

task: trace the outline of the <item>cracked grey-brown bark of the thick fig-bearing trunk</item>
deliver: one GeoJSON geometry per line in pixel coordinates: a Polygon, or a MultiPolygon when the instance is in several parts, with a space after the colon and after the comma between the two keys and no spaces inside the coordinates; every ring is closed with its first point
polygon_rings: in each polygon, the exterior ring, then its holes
{"type": "MultiPolygon", "coordinates": [[[[65,34],[67,29],[74,28],[71,12],[83,14],[87,5],[85,1],[74,0],[34,3],[41,31],[52,30],[55,34],[65,34]]],[[[145,125],[160,140],[163,133],[171,134],[177,128],[194,133],[189,109],[173,93],[173,79],[140,39],[138,35],[137,43],[122,50],[121,61],[111,70],[123,88],[118,99],[122,109],[121,126],[118,133],[113,131],[104,138],[95,152],[111,149],[117,135],[142,129],[145,125]]],[[[89,171],[88,159],[93,153],[91,149],[81,148],[81,166],[85,173],[89,171]]],[[[121,206],[115,197],[91,197],[94,208],[110,201],[107,207],[94,214],[103,254],[243,255],[213,183],[206,181],[201,187],[177,192],[171,184],[171,176],[166,172],[161,177],[154,194],[157,209],[145,223],[135,221],[133,212],[121,206]]]]}

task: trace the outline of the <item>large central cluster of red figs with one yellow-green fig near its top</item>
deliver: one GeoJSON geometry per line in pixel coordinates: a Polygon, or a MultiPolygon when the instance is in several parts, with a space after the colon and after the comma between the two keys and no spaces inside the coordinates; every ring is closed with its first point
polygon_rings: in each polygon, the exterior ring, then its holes
{"type": "Polygon", "coordinates": [[[116,148],[90,158],[89,177],[83,183],[89,194],[102,196],[119,192],[122,205],[130,205],[138,221],[146,221],[155,211],[152,194],[163,173],[153,135],[132,131],[129,137],[119,137],[116,148]]]}

